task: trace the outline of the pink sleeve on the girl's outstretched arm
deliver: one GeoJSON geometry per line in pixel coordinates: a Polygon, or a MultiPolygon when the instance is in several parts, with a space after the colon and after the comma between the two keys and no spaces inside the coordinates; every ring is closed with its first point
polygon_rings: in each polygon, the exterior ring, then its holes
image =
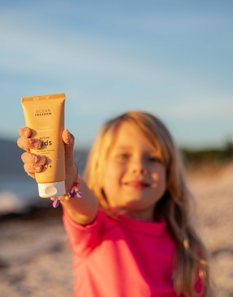
{"type": "Polygon", "coordinates": [[[64,206],[62,208],[64,228],[69,236],[73,254],[85,257],[102,241],[106,214],[99,210],[95,220],[83,226],[71,219],[64,206]]]}

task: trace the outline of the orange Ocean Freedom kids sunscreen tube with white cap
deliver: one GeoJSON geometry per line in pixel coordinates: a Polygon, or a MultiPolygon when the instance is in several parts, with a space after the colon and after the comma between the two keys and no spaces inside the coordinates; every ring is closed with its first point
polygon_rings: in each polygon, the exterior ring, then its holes
{"type": "Polygon", "coordinates": [[[45,165],[35,173],[39,195],[44,198],[65,194],[64,130],[65,94],[21,97],[26,126],[32,131],[30,138],[39,139],[40,149],[31,153],[43,155],[45,165]]]}

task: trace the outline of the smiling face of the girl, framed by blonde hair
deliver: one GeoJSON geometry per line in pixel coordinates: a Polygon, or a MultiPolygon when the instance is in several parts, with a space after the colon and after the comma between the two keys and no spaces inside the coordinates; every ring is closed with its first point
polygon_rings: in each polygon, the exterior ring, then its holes
{"type": "Polygon", "coordinates": [[[111,207],[127,211],[154,209],[166,191],[161,156],[128,123],[122,123],[108,153],[103,190],[111,207]]]}

